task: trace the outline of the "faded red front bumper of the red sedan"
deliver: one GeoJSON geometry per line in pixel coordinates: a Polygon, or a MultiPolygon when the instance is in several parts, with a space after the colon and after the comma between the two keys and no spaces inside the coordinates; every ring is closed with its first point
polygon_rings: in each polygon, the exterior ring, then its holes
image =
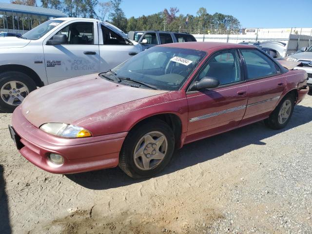
{"type": "Polygon", "coordinates": [[[127,133],[68,139],[41,131],[15,109],[12,125],[20,136],[20,154],[39,168],[56,174],[71,174],[116,167],[119,152],[127,133]],[[56,165],[48,156],[56,153],[64,157],[64,163],[56,165]]]}

